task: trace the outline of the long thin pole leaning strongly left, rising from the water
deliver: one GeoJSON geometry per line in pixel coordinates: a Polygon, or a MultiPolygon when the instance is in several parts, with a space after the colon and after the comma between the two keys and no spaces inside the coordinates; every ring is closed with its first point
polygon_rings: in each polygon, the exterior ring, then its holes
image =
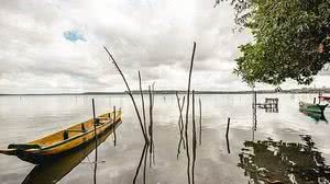
{"type": "Polygon", "coordinates": [[[131,89],[130,89],[130,87],[129,87],[129,83],[127,82],[127,79],[125,79],[124,74],[122,73],[122,71],[121,71],[121,69],[119,68],[117,61],[114,60],[114,58],[112,57],[112,55],[110,54],[110,51],[108,50],[108,48],[107,48],[106,46],[105,46],[105,49],[106,49],[107,54],[109,55],[110,59],[112,60],[112,64],[113,64],[114,67],[117,68],[118,72],[120,73],[120,76],[122,77],[122,79],[123,79],[123,81],[124,81],[124,83],[125,83],[125,85],[127,85],[128,93],[129,93],[129,95],[130,95],[130,97],[131,97],[131,100],[132,100],[132,103],[133,103],[133,105],[134,105],[135,113],[136,113],[138,118],[139,118],[139,122],[140,122],[140,127],[141,127],[141,131],[142,131],[142,134],[143,134],[144,140],[145,140],[146,143],[148,143],[148,139],[147,139],[147,136],[146,136],[146,131],[144,131],[143,124],[142,124],[142,119],[141,119],[141,116],[140,116],[140,113],[139,113],[139,110],[138,110],[138,106],[136,106],[134,96],[133,96],[133,94],[132,94],[132,92],[131,92],[131,89]]]}

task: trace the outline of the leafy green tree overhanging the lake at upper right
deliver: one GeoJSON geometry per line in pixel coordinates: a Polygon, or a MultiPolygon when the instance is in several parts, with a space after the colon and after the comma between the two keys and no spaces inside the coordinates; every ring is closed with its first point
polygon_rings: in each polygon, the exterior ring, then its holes
{"type": "Polygon", "coordinates": [[[235,59],[234,72],[249,84],[278,85],[286,79],[310,84],[314,76],[330,62],[329,0],[230,0],[230,3],[235,10],[238,27],[251,30],[254,36],[253,42],[239,47],[242,55],[235,59]]]}

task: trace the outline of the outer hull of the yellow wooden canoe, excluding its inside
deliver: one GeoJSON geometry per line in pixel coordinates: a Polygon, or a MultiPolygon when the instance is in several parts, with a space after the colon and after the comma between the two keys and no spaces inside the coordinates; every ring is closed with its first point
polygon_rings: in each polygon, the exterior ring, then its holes
{"type": "MultiPolygon", "coordinates": [[[[7,150],[0,150],[0,153],[8,154],[8,156],[16,156],[21,160],[30,162],[30,163],[34,163],[34,164],[45,164],[48,162],[54,162],[54,160],[59,159],[77,149],[80,149],[80,147],[84,147],[85,145],[96,141],[95,131],[96,131],[97,138],[99,138],[105,133],[108,133],[111,129],[116,129],[121,124],[121,120],[122,120],[121,112],[117,113],[117,116],[113,119],[110,118],[110,115],[111,114],[108,113],[108,114],[103,114],[103,115],[99,116],[98,118],[109,117],[108,118],[109,120],[106,120],[105,123],[97,125],[96,129],[92,128],[92,125],[91,125],[92,119],[89,119],[88,122],[82,123],[82,124],[89,126],[89,129],[87,129],[86,131],[76,133],[75,136],[67,137],[66,139],[64,138],[62,141],[57,140],[57,142],[55,142],[53,145],[44,146],[41,149],[20,149],[20,148],[7,149],[7,150]]],[[[80,125],[80,124],[77,124],[77,125],[80,125]]],[[[58,131],[61,134],[56,133],[54,135],[44,137],[42,139],[29,142],[26,145],[29,146],[29,145],[36,143],[36,142],[40,143],[43,141],[50,141],[50,139],[52,139],[52,137],[55,137],[56,139],[58,139],[58,136],[63,137],[63,135],[66,130],[72,130],[72,131],[74,129],[77,130],[77,125],[73,126],[70,128],[67,128],[65,130],[58,131]]],[[[99,145],[99,142],[98,142],[98,145],[99,145]]],[[[9,146],[9,148],[11,148],[11,146],[9,146]]]]}

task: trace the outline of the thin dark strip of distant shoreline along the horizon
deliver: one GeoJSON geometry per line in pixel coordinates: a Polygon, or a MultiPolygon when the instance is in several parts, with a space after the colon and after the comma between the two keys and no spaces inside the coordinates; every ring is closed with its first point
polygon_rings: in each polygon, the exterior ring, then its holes
{"type": "MultiPolygon", "coordinates": [[[[290,94],[314,94],[322,91],[323,93],[330,93],[330,89],[293,89],[293,90],[282,90],[279,92],[275,92],[274,90],[257,90],[256,92],[260,94],[273,94],[273,93],[290,93],[290,94]]],[[[185,94],[187,91],[177,91],[177,90],[157,90],[154,91],[154,94],[185,94]]],[[[140,91],[132,91],[133,94],[140,94],[140,91]]],[[[148,91],[143,91],[144,94],[147,94],[148,91]]],[[[251,94],[253,91],[195,91],[196,94],[251,94]]],[[[85,93],[3,93],[3,95],[125,95],[127,92],[85,92],[85,93]]]]}

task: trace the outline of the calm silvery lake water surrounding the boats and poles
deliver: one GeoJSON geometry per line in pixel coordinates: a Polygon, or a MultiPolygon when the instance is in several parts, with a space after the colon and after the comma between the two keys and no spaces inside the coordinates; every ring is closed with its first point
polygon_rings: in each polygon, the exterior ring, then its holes
{"type": "MultiPolygon", "coordinates": [[[[299,101],[312,102],[315,96],[260,94],[258,102],[278,97],[279,112],[266,113],[258,108],[257,128],[252,131],[251,94],[197,95],[197,100],[202,101],[202,145],[197,147],[196,183],[318,183],[330,180],[329,124],[298,110],[299,101]],[[228,117],[231,118],[230,153],[226,139],[228,117]]],[[[91,118],[92,97],[96,99],[97,114],[109,112],[113,105],[123,111],[123,122],[117,129],[117,147],[112,135],[98,147],[97,183],[132,183],[144,143],[132,103],[124,95],[0,96],[0,148],[12,142],[26,142],[91,118]]],[[[139,96],[136,101],[140,105],[139,96]]],[[[330,111],[326,110],[324,114],[330,119],[330,111]]],[[[182,150],[178,160],[176,158],[178,117],[175,95],[155,95],[156,163],[146,168],[146,183],[187,183],[185,151],[182,150]]],[[[53,165],[54,171],[47,171],[48,168],[34,169],[31,163],[1,154],[0,183],[22,183],[28,175],[40,176],[40,183],[58,180],[58,183],[94,183],[90,163],[94,152],[76,166],[67,165],[76,162],[77,157],[84,159],[85,156],[78,152],[63,161],[66,168],[53,165]],[[52,176],[64,169],[69,172],[63,177],[52,176]],[[32,170],[33,174],[29,174],[32,170]]],[[[141,172],[136,183],[142,183],[142,175],[141,172]]]]}

